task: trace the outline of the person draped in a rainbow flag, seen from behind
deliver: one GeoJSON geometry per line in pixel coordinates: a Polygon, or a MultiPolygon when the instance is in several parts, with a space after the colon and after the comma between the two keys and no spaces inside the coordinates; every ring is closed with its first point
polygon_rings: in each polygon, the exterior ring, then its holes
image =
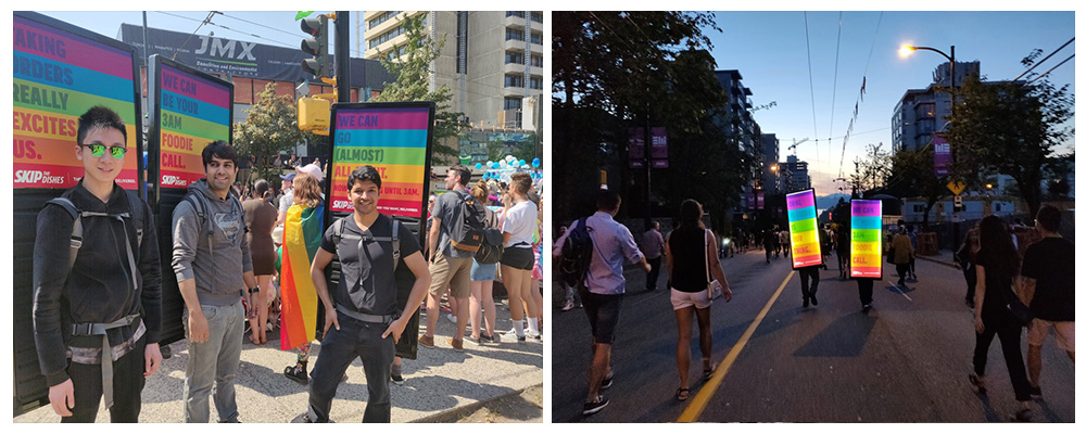
{"type": "Polygon", "coordinates": [[[298,354],[294,365],[283,368],[282,374],[302,385],[310,383],[310,343],[317,331],[317,292],[308,270],[320,248],[325,222],[319,182],[305,173],[294,178],[294,204],[287,210],[282,231],[279,348],[298,354]]]}

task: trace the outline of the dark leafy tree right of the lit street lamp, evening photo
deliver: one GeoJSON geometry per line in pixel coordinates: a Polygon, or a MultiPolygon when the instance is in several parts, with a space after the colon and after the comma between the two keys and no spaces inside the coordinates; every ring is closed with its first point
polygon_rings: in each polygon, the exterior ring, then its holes
{"type": "Polygon", "coordinates": [[[958,102],[948,132],[955,175],[1010,176],[1030,214],[1036,215],[1045,169],[1057,164],[1056,146],[1074,138],[1069,85],[1057,88],[1047,79],[987,82],[973,75],[959,90],[958,102]]]}

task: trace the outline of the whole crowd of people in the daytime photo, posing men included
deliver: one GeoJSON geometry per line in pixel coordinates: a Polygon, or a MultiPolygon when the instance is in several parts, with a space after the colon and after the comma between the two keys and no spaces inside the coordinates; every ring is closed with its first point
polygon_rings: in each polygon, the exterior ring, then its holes
{"type": "Polygon", "coordinates": [[[495,280],[509,293],[510,340],[542,341],[541,191],[528,174],[512,174],[505,186],[471,184],[470,170],[451,167],[449,193],[430,197],[430,237],[422,246],[406,225],[378,210],[381,176],[372,166],[350,174],[353,212],[326,227],[319,162],[280,176],[277,196],[263,179],[239,188],[237,152],[215,141],[201,152],[204,178],[173,210],[164,238],[171,257],[160,258],[150,206],[115,182],[127,151],[124,122],[110,108],[93,107],[79,118],[76,140],[85,175],[39,213],[34,252],[35,340],[49,401],[62,422],[93,422],[103,398],[111,421],[138,421],[146,379],[159,370],[163,353],[169,357],[163,350],[168,346],[160,348],[164,260],[184,299],[185,422],[207,422],[212,399],[219,422],[240,421],[235,391],[247,335],[263,345],[278,329],[280,348],[292,352],[285,381],[310,393],[295,422],[328,421],[336,388],[358,358],[368,388],[363,421],[389,422],[390,383],[404,381],[395,344],[429,298],[419,343],[433,346],[446,292],[462,318],[449,340],[454,349],[463,349],[468,316],[472,342],[501,341],[495,280]],[[491,203],[498,205],[488,208],[491,203]],[[500,234],[501,268],[451,245],[469,205],[482,210],[484,228],[500,234]],[[329,289],[326,268],[336,257],[341,277],[329,289]],[[412,275],[409,289],[397,285],[401,272],[412,275]],[[402,291],[409,291],[405,306],[397,303],[402,291]],[[315,339],[321,350],[311,363],[315,339]]]}

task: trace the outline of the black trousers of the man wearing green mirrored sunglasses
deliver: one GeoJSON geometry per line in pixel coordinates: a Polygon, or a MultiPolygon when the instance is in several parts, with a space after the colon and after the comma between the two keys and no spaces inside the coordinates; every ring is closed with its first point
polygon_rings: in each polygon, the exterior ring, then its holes
{"type": "MultiPolygon", "coordinates": [[[[143,349],[147,337],[136,342],[136,348],[113,362],[113,407],[110,422],[136,423],[143,392],[143,349]]],[[[72,416],[61,418],[62,423],[93,423],[102,400],[102,366],[68,362],[68,376],[75,388],[75,408],[72,416]]]]}

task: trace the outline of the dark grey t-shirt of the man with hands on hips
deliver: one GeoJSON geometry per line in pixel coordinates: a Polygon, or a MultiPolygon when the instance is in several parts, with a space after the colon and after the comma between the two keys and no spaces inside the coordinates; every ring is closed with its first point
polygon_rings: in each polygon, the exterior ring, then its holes
{"type": "Polygon", "coordinates": [[[372,241],[374,237],[392,237],[392,219],[381,214],[363,231],[353,216],[343,217],[343,237],[333,243],[334,225],[329,226],[320,248],[340,258],[340,281],[333,299],[339,306],[369,315],[392,315],[396,311],[396,279],[409,272],[403,259],[419,252],[418,240],[406,225],[400,225],[400,265],[392,271],[392,242],[372,241]],[[353,235],[353,237],[352,237],[353,235]],[[359,251],[359,238],[365,252],[359,251]]]}

